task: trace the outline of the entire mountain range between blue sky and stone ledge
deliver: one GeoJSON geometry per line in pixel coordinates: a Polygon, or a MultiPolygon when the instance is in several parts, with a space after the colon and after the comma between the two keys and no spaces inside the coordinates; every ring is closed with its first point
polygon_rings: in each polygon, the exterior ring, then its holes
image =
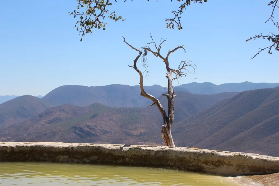
{"type": "MultiPolygon", "coordinates": [[[[186,85],[180,87],[184,91],[175,87],[172,135],[176,146],[279,156],[279,87],[202,95],[189,92],[213,89],[186,85]]],[[[257,86],[248,82],[242,88],[257,86]]],[[[167,107],[167,99],[159,96],[163,87],[145,89],[167,107]]],[[[0,104],[0,141],[162,145],[160,112],[148,99],[133,95],[139,91],[138,86],[128,85],[66,85],[42,99],[16,97],[0,104]]]]}

